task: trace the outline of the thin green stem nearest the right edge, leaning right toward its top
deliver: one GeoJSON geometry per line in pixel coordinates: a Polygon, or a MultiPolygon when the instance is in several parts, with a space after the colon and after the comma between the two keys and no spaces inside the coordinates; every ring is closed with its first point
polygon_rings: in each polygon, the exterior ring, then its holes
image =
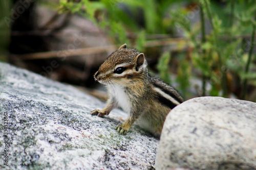
{"type": "MultiPolygon", "coordinates": [[[[251,46],[250,46],[248,60],[247,60],[246,67],[245,67],[245,75],[249,71],[249,65],[250,65],[250,62],[251,62],[251,56],[252,56],[253,45],[254,45],[253,42],[254,42],[255,27],[256,26],[253,25],[252,27],[253,28],[252,28],[252,34],[251,34],[251,46]]],[[[242,99],[245,99],[246,89],[247,89],[247,78],[245,78],[244,81],[243,81],[242,99]]]]}

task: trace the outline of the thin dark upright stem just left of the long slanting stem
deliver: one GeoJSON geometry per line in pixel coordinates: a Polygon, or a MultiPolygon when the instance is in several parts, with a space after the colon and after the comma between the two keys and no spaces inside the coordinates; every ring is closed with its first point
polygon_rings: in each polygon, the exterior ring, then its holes
{"type": "MultiPolygon", "coordinates": [[[[204,44],[206,42],[206,38],[205,38],[205,26],[204,26],[204,11],[203,11],[202,7],[200,8],[200,17],[201,17],[201,31],[202,31],[202,39],[201,39],[201,41],[202,41],[202,44],[204,44]]],[[[205,50],[204,49],[202,50],[202,56],[203,56],[204,62],[206,62],[205,61],[205,50]]],[[[206,76],[205,76],[205,74],[203,72],[202,96],[205,96],[205,94],[206,94],[205,86],[206,86],[206,76]]]]}

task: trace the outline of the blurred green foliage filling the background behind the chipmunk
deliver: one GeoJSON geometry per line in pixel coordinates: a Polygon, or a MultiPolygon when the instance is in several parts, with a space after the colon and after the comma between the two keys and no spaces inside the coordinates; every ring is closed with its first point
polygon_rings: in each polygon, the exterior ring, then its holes
{"type": "MultiPolygon", "coordinates": [[[[237,77],[244,91],[247,80],[256,85],[255,56],[249,53],[254,44],[248,42],[256,26],[254,0],[226,0],[221,5],[209,0],[60,0],[60,4],[60,11],[90,18],[116,43],[135,44],[140,51],[145,49],[146,35],[182,35],[188,50],[172,57],[172,50],[163,51],[157,68],[160,77],[170,83],[169,64],[173,58],[178,60],[175,82],[185,99],[191,97],[190,79],[202,79],[199,95],[229,96],[237,77]],[[195,21],[198,17],[202,19],[195,21]],[[204,22],[209,23],[207,27],[204,22]],[[134,40],[127,33],[138,36],[134,40]],[[208,91],[206,84],[210,85],[208,91]]],[[[244,98],[241,92],[237,95],[244,98]]]]}

